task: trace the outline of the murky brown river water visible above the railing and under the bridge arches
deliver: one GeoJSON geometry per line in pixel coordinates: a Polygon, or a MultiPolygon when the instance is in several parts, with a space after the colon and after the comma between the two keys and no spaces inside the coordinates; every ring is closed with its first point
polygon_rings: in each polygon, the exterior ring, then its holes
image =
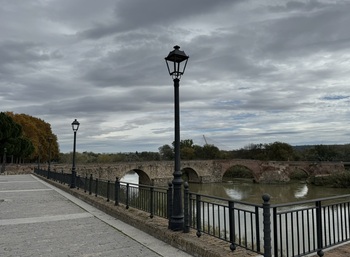
{"type": "MultiPolygon", "coordinates": [[[[139,183],[137,173],[130,172],[122,179],[122,182],[139,183]]],[[[329,188],[314,186],[303,182],[280,184],[257,184],[250,180],[235,180],[230,183],[211,183],[189,185],[190,191],[203,195],[216,196],[225,199],[244,201],[249,203],[262,203],[262,195],[271,196],[270,203],[288,203],[304,200],[312,200],[329,196],[350,194],[349,188],[329,188]]]]}

